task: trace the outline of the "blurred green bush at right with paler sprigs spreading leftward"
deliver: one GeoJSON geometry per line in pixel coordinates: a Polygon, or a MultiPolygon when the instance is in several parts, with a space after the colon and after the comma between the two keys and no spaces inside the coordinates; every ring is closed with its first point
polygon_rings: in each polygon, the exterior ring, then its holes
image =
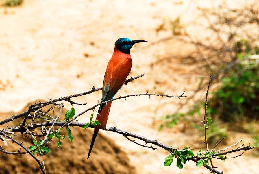
{"type": "MultiPolygon", "coordinates": [[[[236,58],[238,63],[220,79],[220,87],[210,93],[208,99],[207,116],[214,122],[207,130],[208,142],[216,144],[221,138],[227,136],[227,128],[221,123],[227,121],[240,124],[241,122],[256,119],[259,112],[259,57],[251,59],[251,55],[259,54],[259,48],[250,45],[247,40],[241,39],[236,42],[236,58]],[[216,121],[215,121],[216,120],[216,121]]],[[[222,66],[224,69],[225,66],[222,66]]],[[[176,112],[161,118],[159,129],[172,128],[179,122],[192,123],[191,125],[201,134],[204,128],[195,124],[195,116],[202,119],[204,102],[192,106],[186,113],[176,112]]],[[[259,143],[258,135],[253,136],[259,143]]]]}

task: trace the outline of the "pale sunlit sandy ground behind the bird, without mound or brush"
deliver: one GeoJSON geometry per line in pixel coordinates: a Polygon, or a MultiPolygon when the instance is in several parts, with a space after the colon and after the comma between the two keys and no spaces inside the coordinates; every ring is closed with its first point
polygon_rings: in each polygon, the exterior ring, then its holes
{"type": "MultiPolygon", "coordinates": [[[[200,74],[195,67],[180,64],[175,59],[169,65],[151,63],[167,55],[183,55],[189,47],[176,40],[159,42],[171,35],[170,30],[156,33],[165,19],[181,16],[183,23],[199,22],[197,7],[210,9],[218,1],[67,1],[24,0],[20,7],[0,8],[0,112],[19,111],[25,103],[36,99],[58,98],[88,91],[94,85],[101,87],[107,63],[120,37],[143,39],[148,42],[134,45],[131,51],[131,76],[146,73],[144,77],[123,86],[117,95],[158,92],[187,96],[193,94],[200,74]]],[[[231,7],[245,5],[246,1],[227,1],[231,7]]],[[[204,36],[201,28],[187,26],[193,38],[204,36]]],[[[205,76],[206,78],[208,76],[205,76]]],[[[202,95],[205,94],[205,91],[202,95]]],[[[87,106],[75,106],[76,112],[98,102],[101,91],[74,99],[87,106]]],[[[132,97],[114,101],[108,126],[134,132],[174,147],[188,145],[197,138],[177,128],[158,132],[152,127],[153,118],[159,119],[178,109],[186,99],[159,97],[132,97]]],[[[65,104],[67,108],[69,104],[65,104]]],[[[91,112],[79,118],[88,122],[91,112]]],[[[202,118],[201,118],[202,120],[202,118]]],[[[168,155],[162,149],[153,151],[129,142],[119,134],[101,133],[113,138],[125,151],[138,173],[208,173],[193,162],[179,170],[175,162],[163,166],[168,155]]],[[[234,137],[238,141],[243,137],[234,137]]],[[[231,143],[230,142],[230,143],[231,143]]],[[[86,145],[88,149],[89,145],[86,145]]],[[[253,152],[249,152],[253,153],[253,152]]],[[[225,173],[257,173],[258,158],[244,155],[215,161],[225,173]]]]}

